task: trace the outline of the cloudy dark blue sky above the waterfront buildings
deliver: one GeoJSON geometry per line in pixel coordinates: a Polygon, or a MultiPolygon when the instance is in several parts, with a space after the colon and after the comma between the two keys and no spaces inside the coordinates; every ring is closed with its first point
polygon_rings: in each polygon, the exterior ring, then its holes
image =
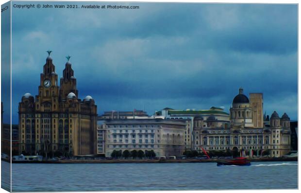
{"type": "Polygon", "coordinates": [[[247,96],[263,93],[267,115],[297,120],[296,4],[74,4],[139,9],[13,8],[13,123],[22,96],[38,93],[47,50],[59,78],[71,56],[78,97],[91,95],[99,115],[165,107],[229,112],[242,87],[247,96]]]}

